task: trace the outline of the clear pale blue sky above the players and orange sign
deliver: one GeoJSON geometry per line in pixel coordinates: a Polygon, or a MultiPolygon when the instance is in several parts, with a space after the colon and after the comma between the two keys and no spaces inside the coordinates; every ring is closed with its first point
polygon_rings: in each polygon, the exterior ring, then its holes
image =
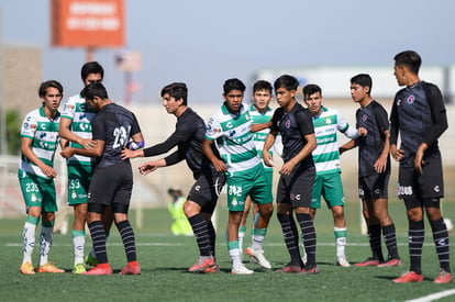
{"type": "MultiPolygon", "coordinates": [[[[43,47],[44,79],[60,80],[74,94],[81,88],[86,52],[49,46],[49,3],[0,0],[1,40],[43,47]]],[[[455,64],[451,0],[125,0],[125,48],[143,56],[142,70],[133,75],[142,87],[133,96],[140,103],[158,101],[160,88],[171,81],[188,83],[190,103],[221,103],[225,79],[251,85],[260,68],[392,68],[393,55],[404,49],[419,52],[424,65],[455,64]]],[[[95,59],[106,67],[111,99],[120,101],[116,52],[97,51],[95,59]]]]}

